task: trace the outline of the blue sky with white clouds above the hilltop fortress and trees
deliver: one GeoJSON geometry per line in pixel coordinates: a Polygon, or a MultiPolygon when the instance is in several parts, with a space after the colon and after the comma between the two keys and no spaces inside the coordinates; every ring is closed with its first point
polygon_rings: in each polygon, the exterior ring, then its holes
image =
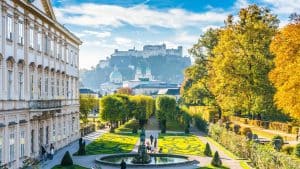
{"type": "Polygon", "coordinates": [[[141,50],[147,44],[183,46],[183,54],[208,28],[224,25],[229,14],[258,4],[283,26],[300,11],[300,0],[52,0],[57,20],[78,36],[80,68],[95,67],[115,49],[141,50]]]}

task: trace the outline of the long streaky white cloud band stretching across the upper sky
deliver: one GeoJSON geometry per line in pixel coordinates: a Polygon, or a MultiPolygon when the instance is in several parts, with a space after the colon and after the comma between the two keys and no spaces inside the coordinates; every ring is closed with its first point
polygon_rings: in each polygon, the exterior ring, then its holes
{"type": "Polygon", "coordinates": [[[58,20],[65,24],[80,26],[114,26],[124,23],[148,28],[159,26],[165,28],[184,28],[206,24],[223,23],[227,12],[207,11],[203,13],[188,12],[183,9],[157,11],[147,5],[129,8],[116,5],[84,3],[78,6],[55,8],[58,20]]]}

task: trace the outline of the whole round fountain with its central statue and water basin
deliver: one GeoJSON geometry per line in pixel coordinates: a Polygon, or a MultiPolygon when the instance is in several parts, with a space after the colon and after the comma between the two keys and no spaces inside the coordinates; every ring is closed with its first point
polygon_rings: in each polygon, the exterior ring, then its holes
{"type": "Polygon", "coordinates": [[[96,159],[97,163],[108,166],[120,166],[122,160],[124,160],[127,166],[132,167],[159,167],[159,166],[173,166],[173,165],[188,165],[195,163],[194,160],[190,160],[187,156],[174,155],[174,154],[153,154],[147,153],[145,145],[145,129],[140,133],[140,144],[138,146],[138,153],[122,153],[115,155],[108,155],[96,159]]]}

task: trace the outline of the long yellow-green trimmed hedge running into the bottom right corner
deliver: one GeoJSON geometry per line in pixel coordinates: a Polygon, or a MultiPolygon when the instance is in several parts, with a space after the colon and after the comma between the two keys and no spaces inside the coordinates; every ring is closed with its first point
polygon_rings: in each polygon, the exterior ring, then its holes
{"type": "Polygon", "coordinates": [[[256,168],[298,169],[300,166],[299,160],[285,153],[277,152],[271,143],[262,145],[247,141],[245,136],[227,131],[218,124],[210,125],[209,135],[237,156],[251,160],[256,168]]]}

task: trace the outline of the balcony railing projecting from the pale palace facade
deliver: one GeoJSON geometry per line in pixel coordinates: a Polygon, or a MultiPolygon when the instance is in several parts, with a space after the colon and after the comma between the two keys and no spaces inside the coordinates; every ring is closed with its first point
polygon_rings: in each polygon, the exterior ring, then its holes
{"type": "Polygon", "coordinates": [[[62,108],[61,100],[32,100],[29,101],[30,109],[53,109],[62,108]]]}

